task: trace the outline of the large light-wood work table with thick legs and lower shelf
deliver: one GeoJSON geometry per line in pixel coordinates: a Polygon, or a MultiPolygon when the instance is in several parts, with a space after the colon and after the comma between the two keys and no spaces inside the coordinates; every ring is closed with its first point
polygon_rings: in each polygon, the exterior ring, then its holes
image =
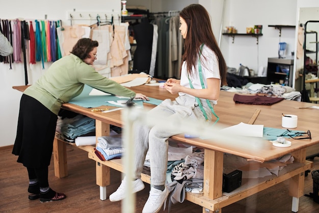
{"type": "MultiPolygon", "coordinates": [[[[13,87],[19,91],[24,91],[27,86],[13,87]]],[[[163,88],[152,86],[139,86],[130,88],[138,93],[143,93],[149,97],[157,99],[170,98],[174,99],[176,95],[172,95],[163,88]]],[[[273,105],[248,105],[236,104],[233,101],[234,93],[221,91],[218,104],[215,106],[215,112],[220,117],[219,124],[232,126],[238,123],[248,123],[256,109],[260,109],[260,113],[254,124],[262,124],[265,127],[282,128],[281,117],[284,114],[298,115],[297,130],[311,131],[312,139],[309,140],[293,140],[290,147],[275,147],[269,141],[263,141],[258,146],[241,145],[233,146],[228,143],[220,143],[214,140],[187,139],[183,135],[171,137],[172,140],[180,143],[187,143],[197,147],[204,148],[204,193],[202,195],[187,193],[185,199],[203,206],[203,212],[221,212],[225,207],[238,200],[244,199],[250,195],[258,193],[264,189],[272,187],[286,179],[290,179],[289,195],[293,197],[292,211],[298,211],[299,198],[303,196],[304,189],[304,172],[309,170],[312,163],[306,161],[306,150],[319,144],[319,128],[317,123],[319,113],[316,109],[295,109],[295,107],[310,107],[313,103],[298,102],[293,100],[283,100],[273,105]],[[257,179],[243,179],[242,187],[231,193],[222,192],[223,181],[223,155],[230,153],[254,159],[256,161],[265,162],[271,159],[281,157],[290,153],[294,156],[294,164],[287,165],[276,175],[267,176],[257,179]]],[[[316,104],[318,105],[318,104],[316,104]]],[[[144,107],[154,107],[144,103],[144,107]]],[[[103,106],[101,106],[103,107],[103,106]]],[[[64,103],[63,109],[70,110],[79,114],[86,115],[96,120],[96,137],[108,136],[110,133],[110,124],[123,126],[121,120],[121,111],[110,113],[91,112],[90,109],[79,107],[71,103],[64,103]]],[[[215,118],[214,118],[215,119],[215,118]]],[[[121,159],[113,159],[111,161],[100,161],[94,153],[94,146],[78,147],[88,151],[88,156],[96,161],[96,182],[100,186],[100,199],[105,200],[106,187],[110,184],[110,168],[123,172],[121,159]]],[[[319,152],[319,149],[317,150],[319,152]]],[[[57,177],[67,176],[66,161],[66,143],[56,139],[54,142],[54,162],[55,175],[57,177]]],[[[142,174],[142,180],[150,183],[150,176],[142,174]]],[[[287,195],[288,196],[288,195],[287,195]]]]}

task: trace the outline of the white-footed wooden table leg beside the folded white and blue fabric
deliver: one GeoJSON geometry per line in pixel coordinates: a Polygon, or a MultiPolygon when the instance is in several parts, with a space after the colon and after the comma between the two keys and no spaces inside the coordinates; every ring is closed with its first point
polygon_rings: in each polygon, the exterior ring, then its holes
{"type": "MultiPolygon", "coordinates": [[[[110,124],[95,120],[96,143],[97,138],[110,135],[110,124]]],[[[111,183],[110,167],[96,162],[96,184],[100,186],[100,199],[107,199],[107,185],[111,183]]]]}

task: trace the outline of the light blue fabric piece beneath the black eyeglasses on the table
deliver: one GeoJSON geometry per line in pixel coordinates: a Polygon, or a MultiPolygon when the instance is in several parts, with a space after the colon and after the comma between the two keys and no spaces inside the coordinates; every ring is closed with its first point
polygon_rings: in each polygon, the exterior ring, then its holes
{"type": "Polygon", "coordinates": [[[297,137],[303,136],[304,134],[307,134],[307,131],[291,129],[289,129],[288,131],[287,129],[263,127],[262,138],[265,140],[275,141],[278,137],[290,138],[288,135],[290,135],[291,137],[297,137]]]}

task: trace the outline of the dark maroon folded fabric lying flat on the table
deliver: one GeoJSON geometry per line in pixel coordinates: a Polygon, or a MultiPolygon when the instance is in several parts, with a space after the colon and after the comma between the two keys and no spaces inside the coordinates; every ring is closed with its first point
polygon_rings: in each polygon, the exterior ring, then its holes
{"type": "Polygon", "coordinates": [[[282,101],[284,98],[267,97],[259,95],[238,95],[235,94],[233,100],[235,103],[253,104],[253,105],[272,105],[282,101]]]}

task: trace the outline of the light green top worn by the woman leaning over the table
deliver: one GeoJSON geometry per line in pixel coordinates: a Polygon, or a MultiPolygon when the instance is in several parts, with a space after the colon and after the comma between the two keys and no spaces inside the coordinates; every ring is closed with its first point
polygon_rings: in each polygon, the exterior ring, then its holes
{"type": "Polygon", "coordinates": [[[73,54],[54,62],[35,84],[24,91],[24,94],[37,99],[58,115],[61,105],[81,94],[85,84],[114,95],[136,95],[134,91],[102,76],[73,54]]]}

